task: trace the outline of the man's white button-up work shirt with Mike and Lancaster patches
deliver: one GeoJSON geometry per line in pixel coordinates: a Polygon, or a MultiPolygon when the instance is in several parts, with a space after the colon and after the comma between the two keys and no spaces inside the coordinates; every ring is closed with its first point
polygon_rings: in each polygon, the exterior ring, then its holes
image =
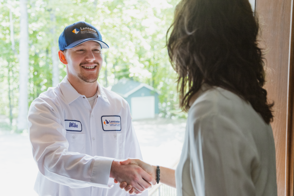
{"type": "Polygon", "coordinates": [[[109,175],[114,159],[142,158],[130,107],[97,86],[93,109],[67,77],[31,103],[28,130],[40,196],[126,195],[109,175]]]}

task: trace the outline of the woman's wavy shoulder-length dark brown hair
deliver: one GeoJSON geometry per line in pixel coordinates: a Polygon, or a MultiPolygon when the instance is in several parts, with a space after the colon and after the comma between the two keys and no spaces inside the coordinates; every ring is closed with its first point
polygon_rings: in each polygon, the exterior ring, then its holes
{"type": "Polygon", "coordinates": [[[265,123],[273,120],[273,103],[262,88],[265,72],[258,30],[248,0],[182,0],[176,6],[167,47],[184,111],[206,83],[249,101],[265,123]]]}

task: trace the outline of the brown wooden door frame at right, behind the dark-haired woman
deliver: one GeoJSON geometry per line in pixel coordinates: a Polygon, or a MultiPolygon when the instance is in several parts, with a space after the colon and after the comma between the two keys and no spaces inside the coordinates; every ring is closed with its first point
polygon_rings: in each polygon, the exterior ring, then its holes
{"type": "Polygon", "coordinates": [[[271,123],[276,146],[278,196],[293,196],[294,178],[294,18],[293,0],[255,0],[259,18],[271,123]],[[264,47],[265,46],[265,47],[264,47]]]}

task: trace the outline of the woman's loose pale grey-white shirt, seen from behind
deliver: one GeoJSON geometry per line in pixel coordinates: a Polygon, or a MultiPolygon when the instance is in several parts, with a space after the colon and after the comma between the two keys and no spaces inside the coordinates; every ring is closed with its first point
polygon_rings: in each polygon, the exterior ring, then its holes
{"type": "Polygon", "coordinates": [[[276,196],[271,126],[230,91],[204,85],[199,94],[175,173],[178,196],[276,196]]]}

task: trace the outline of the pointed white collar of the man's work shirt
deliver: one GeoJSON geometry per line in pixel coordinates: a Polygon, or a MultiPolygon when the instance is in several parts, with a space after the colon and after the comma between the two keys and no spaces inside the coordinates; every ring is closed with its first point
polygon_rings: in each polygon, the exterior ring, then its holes
{"type": "MultiPolygon", "coordinates": [[[[82,96],[80,93],[78,93],[78,91],[76,91],[76,89],[71,86],[71,83],[69,83],[69,80],[67,79],[67,76],[65,76],[63,78],[63,80],[61,81],[61,83],[59,83],[60,86],[60,90],[62,95],[64,96],[64,98],[66,99],[67,103],[70,104],[71,102],[73,102],[74,100],[76,100],[79,96],[82,96]]],[[[101,98],[108,103],[108,105],[110,105],[106,94],[104,93],[102,87],[100,86],[100,84],[97,81],[97,92],[98,92],[98,96],[101,96],[101,98]]]]}

